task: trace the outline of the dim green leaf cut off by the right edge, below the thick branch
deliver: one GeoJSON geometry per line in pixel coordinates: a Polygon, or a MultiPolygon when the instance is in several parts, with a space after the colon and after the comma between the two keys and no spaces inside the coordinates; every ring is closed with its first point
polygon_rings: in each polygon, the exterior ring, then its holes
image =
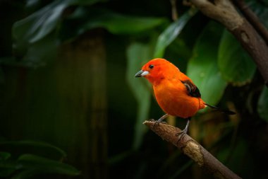
{"type": "Polygon", "coordinates": [[[268,88],[264,86],[257,103],[257,112],[262,120],[268,122],[268,88]]]}

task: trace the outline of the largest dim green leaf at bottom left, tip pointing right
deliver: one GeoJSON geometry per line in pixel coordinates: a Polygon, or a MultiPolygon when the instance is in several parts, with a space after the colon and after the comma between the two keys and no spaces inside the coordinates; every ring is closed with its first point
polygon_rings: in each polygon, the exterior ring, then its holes
{"type": "Polygon", "coordinates": [[[63,175],[80,174],[80,171],[66,163],[30,154],[20,156],[18,158],[18,163],[20,163],[22,168],[25,170],[13,177],[16,179],[28,178],[39,173],[58,173],[63,175]]]}

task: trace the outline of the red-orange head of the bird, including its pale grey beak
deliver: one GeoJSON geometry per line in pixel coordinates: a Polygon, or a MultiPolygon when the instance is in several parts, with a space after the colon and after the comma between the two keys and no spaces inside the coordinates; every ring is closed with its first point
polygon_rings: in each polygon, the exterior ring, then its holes
{"type": "Polygon", "coordinates": [[[135,77],[144,76],[153,85],[160,83],[163,79],[173,78],[179,69],[166,59],[152,59],[135,74],[135,77]]]}

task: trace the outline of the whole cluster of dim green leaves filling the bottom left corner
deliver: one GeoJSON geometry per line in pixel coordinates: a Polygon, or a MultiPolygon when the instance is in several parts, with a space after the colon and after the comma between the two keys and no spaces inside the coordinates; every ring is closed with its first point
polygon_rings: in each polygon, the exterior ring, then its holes
{"type": "Polygon", "coordinates": [[[44,142],[0,142],[0,149],[2,178],[30,178],[44,173],[80,174],[76,168],[62,162],[66,158],[64,151],[44,142]]]}

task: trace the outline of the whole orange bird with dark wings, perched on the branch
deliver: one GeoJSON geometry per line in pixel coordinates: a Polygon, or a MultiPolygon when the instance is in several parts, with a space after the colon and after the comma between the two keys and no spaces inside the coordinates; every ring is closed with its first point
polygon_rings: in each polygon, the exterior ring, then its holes
{"type": "Polygon", "coordinates": [[[135,77],[142,76],[152,83],[157,103],[166,113],[156,121],[157,123],[162,122],[168,115],[187,119],[185,129],[177,134],[179,139],[188,132],[190,117],[206,106],[229,115],[234,114],[232,111],[221,110],[205,103],[193,81],[166,59],[158,58],[147,62],[142,70],[135,74],[135,77]]]}

